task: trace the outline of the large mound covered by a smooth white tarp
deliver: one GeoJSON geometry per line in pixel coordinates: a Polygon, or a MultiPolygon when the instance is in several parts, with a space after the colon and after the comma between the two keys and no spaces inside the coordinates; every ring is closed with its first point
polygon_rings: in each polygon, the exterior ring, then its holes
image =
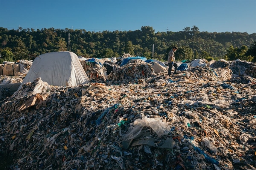
{"type": "Polygon", "coordinates": [[[22,84],[39,77],[53,86],[77,86],[89,82],[78,56],[68,51],[41,54],[35,58],[19,89],[22,84]]]}

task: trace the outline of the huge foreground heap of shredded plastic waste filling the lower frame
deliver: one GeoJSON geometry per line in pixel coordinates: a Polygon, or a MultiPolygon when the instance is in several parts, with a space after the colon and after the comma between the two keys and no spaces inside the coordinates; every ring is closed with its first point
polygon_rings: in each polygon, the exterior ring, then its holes
{"type": "Polygon", "coordinates": [[[131,60],[105,83],[25,83],[1,102],[1,159],[15,170],[253,170],[256,79],[219,75],[205,65],[168,77],[131,60]]]}

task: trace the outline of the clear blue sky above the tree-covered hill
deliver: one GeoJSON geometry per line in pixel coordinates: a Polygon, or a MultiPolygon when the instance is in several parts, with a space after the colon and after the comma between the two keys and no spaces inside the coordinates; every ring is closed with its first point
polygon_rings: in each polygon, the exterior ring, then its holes
{"type": "Polygon", "coordinates": [[[0,27],[256,33],[256,0],[0,0],[0,27]]]}

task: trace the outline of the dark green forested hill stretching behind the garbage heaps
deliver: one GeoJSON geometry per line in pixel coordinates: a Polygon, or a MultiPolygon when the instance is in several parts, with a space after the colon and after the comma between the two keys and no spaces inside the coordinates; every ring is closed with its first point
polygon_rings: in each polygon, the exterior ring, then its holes
{"type": "Polygon", "coordinates": [[[255,57],[256,33],[200,32],[199,28],[186,27],[180,32],[157,32],[143,26],[135,31],[90,32],[73,29],[22,29],[0,27],[1,61],[33,59],[43,53],[72,51],[85,57],[119,57],[123,53],[133,56],[166,60],[173,45],[179,49],[175,56],[181,59],[245,59],[255,57]],[[70,35],[70,47],[68,48],[70,35]],[[250,53],[249,53],[250,52],[250,53]]]}

